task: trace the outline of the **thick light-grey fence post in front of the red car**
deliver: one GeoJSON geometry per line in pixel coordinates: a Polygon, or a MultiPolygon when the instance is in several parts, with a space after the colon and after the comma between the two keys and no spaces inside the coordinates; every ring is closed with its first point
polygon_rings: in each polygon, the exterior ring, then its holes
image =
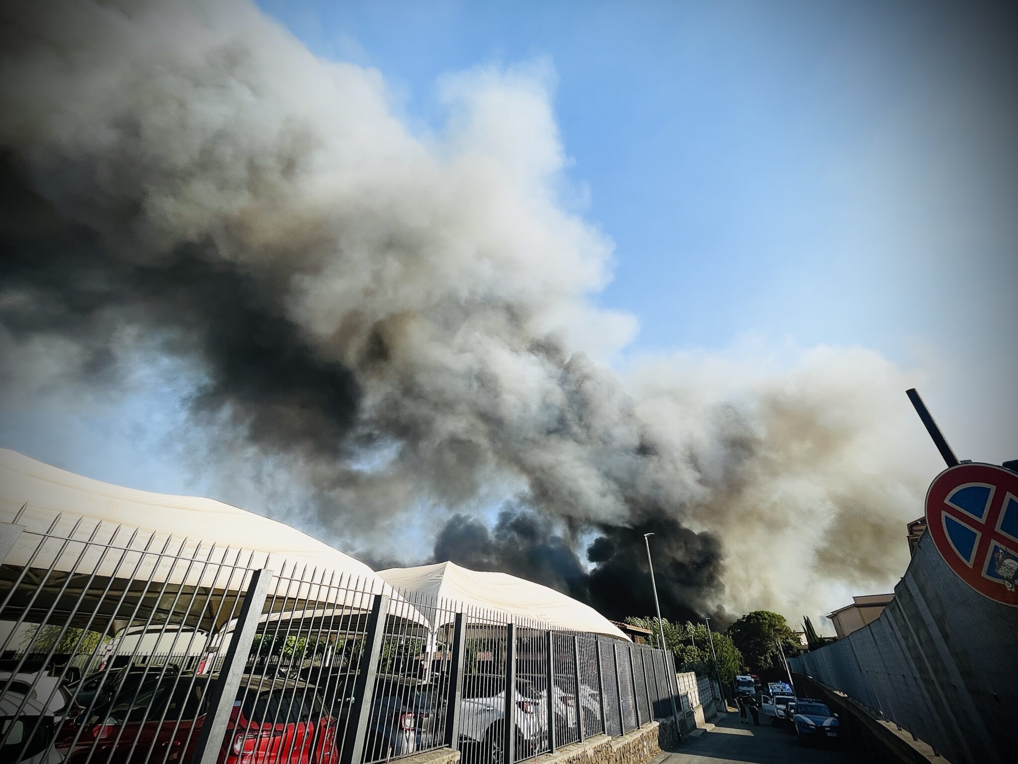
{"type": "MultiPolygon", "coordinates": [[[[251,574],[251,580],[244,594],[243,604],[237,617],[237,626],[226,650],[226,660],[219,672],[219,679],[209,691],[209,706],[202,725],[202,733],[194,749],[192,764],[216,764],[219,759],[220,744],[226,736],[226,725],[233,711],[233,699],[240,689],[240,677],[244,673],[247,654],[254,642],[262,606],[269,594],[272,570],[261,569],[251,574]]],[[[142,641],[138,640],[138,643],[142,641]]],[[[126,673],[126,672],[125,672],[126,673]]]]}

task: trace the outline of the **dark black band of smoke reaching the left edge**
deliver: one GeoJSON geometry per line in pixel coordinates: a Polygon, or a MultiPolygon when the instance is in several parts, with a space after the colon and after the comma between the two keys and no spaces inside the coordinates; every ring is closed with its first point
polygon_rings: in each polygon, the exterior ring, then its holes
{"type": "Polygon", "coordinates": [[[0,157],[0,321],[15,339],[71,337],[88,353],[82,371],[104,377],[118,332],[140,327],[146,344],[200,366],[196,415],[226,416],[269,448],[344,454],[359,385],[286,317],[283,275],[231,262],[211,240],[138,258],[144,241],[111,244],[62,214],[9,155],[0,157]]]}

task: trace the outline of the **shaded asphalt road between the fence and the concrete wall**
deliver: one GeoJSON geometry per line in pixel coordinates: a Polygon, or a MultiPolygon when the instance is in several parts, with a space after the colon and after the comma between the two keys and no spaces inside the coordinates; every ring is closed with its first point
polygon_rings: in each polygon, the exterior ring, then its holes
{"type": "Polygon", "coordinates": [[[738,712],[716,720],[717,726],[698,738],[686,738],[674,753],[658,764],[861,764],[864,760],[846,747],[804,746],[784,727],[772,727],[762,715],[759,726],[739,722],[738,712]]]}

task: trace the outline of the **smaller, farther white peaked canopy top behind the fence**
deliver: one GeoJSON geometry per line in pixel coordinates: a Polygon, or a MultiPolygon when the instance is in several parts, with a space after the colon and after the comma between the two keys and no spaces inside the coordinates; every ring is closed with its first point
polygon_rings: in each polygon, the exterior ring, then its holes
{"type": "MultiPolygon", "coordinates": [[[[514,615],[548,627],[592,632],[629,641],[617,626],[592,607],[554,589],[501,572],[483,572],[453,562],[380,570],[390,585],[438,600],[514,615]]],[[[439,610],[443,613],[443,610],[439,610]]],[[[448,618],[448,614],[445,616],[448,618]]],[[[443,625],[435,623],[436,627],[443,625]]]]}

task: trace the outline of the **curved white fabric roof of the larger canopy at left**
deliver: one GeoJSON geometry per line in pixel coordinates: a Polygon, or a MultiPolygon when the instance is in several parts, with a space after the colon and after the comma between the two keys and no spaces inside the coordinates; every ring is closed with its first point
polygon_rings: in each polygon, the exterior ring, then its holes
{"type": "MultiPolygon", "coordinates": [[[[103,483],[0,448],[0,522],[10,523],[19,513],[18,524],[32,533],[22,534],[8,553],[4,561],[10,565],[29,564],[35,552],[33,567],[46,568],[53,563],[54,569],[61,571],[84,569],[92,574],[95,569],[97,576],[117,576],[123,570],[118,570],[120,555],[103,557],[101,545],[159,551],[166,544],[168,554],[189,558],[201,544],[196,558],[203,564],[171,564],[172,558],[150,554],[142,558],[132,578],[152,575],[154,581],[234,591],[243,577],[228,578],[231,568],[227,566],[239,565],[269,568],[277,575],[288,571],[294,579],[309,579],[313,570],[319,580],[334,572],[337,591],[342,583],[361,592],[395,594],[363,562],[271,517],[214,499],[103,483]],[[46,533],[80,541],[91,538],[96,546],[90,547],[81,559],[77,558],[76,547],[73,554],[59,554],[59,544],[40,544],[41,534],[46,533]],[[225,565],[217,566],[219,561],[225,565]]],[[[298,591],[305,596],[307,586],[277,581],[277,593],[282,597],[286,588],[294,589],[291,597],[298,591]]],[[[358,601],[361,598],[358,596],[358,601]]],[[[353,606],[352,595],[346,599],[351,600],[346,607],[353,606]]],[[[413,620],[421,620],[415,611],[411,615],[413,620]]]]}

